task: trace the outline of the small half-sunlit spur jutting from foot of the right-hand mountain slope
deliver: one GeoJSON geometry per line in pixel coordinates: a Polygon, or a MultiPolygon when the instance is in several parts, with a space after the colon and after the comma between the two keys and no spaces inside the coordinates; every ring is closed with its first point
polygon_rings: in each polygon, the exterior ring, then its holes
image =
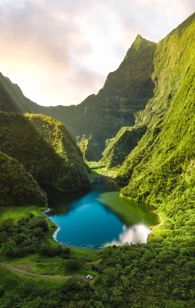
{"type": "Polygon", "coordinates": [[[121,165],[145,132],[146,126],[122,127],[116,137],[107,140],[102,158],[106,167],[113,168],[121,165]]]}

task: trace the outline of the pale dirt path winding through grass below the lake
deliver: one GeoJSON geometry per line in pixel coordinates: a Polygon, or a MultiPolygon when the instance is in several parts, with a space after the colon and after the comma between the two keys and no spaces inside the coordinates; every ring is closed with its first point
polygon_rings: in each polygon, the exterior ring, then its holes
{"type": "Polygon", "coordinates": [[[26,274],[26,275],[30,275],[30,276],[36,276],[36,277],[41,277],[41,278],[71,278],[71,277],[79,277],[79,278],[83,278],[86,279],[86,276],[81,275],[81,274],[75,274],[75,275],[66,275],[66,276],[60,276],[60,275],[39,275],[39,274],[34,274],[34,273],[30,273],[27,271],[27,267],[30,266],[32,263],[30,264],[8,264],[8,263],[4,263],[4,262],[0,262],[0,264],[5,265],[7,267],[9,267],[10,269],[12,269],[12,271],[18,272],[18,273],[22,273],[22,274],[26,274]],[[23,266],[24,268],[17,268],[15,267],[16,265],[19,266],[23,266]]]}

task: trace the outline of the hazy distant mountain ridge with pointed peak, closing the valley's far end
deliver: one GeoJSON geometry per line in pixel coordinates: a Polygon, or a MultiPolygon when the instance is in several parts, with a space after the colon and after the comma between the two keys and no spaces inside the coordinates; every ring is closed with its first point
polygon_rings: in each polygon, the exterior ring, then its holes
{"type": "Polygon", "coordinates": [[[105,141],[113,138],[123,126],[132,126],[134,114],[145,108],[153,96],[153,56],[157,45],[138,35],[120,67],[108,74],[104,87],[97,95],[89,95],[77,106],[44,107],[27,99],[21,89],[0,75],[0,85],[14,106],[6,101],[0,105],[3,111],[43,113],[61,121],[72,137],[93,138],[105,148],[105,141]]]}

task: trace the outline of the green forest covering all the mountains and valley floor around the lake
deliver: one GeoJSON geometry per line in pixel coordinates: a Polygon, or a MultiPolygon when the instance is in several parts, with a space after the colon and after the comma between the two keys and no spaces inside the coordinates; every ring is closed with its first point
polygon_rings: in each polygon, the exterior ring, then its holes
{"type": "Polygon", "coordinates": [[[1,308],[195,306],[194,42],[195,13],[158,44],[138,35],[103,89],[77,106],[38,106],[0,76],[1,261],[95,277],[32,278],[0,264],[1,308]],[[101,152],[93,165],[117,167],[121,197],[157,210],[161,223],[147,244],[62,247],[52,239],[56,226],[24,206],[46,208],[38,182],[88,187],[85,162],[101,152]]]}

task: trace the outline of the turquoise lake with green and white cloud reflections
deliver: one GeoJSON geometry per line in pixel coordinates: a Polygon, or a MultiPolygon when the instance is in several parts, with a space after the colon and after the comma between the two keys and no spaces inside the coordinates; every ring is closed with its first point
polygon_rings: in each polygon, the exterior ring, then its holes
{"type": "Polygon", "coordinates": [[[77,248],[100,249],[125,242],[146,242],[150,225],[158,223],[152,207],[119,198],[120,187],[98,178],[90,190],[66,193],[49,185],[49,218],[59,226],[56,240],[77,248]]]}

